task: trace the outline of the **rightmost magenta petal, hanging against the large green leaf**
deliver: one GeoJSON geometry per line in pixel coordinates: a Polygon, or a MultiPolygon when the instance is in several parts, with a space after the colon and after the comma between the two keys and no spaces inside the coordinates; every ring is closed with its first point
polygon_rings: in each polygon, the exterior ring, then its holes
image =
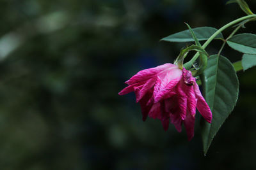
{"type": "Polygon", "coordinates": [[[211,109],[209,108],[208,104],[205,102],[205,99],[202,96],[198,85],[195,83],[193,87],[194,87],[196,99],[197,99],[196,108],[199,111],[199,113],[202,115],[202,117],[204,117],[204,119],[207,122],[211,123],[212,121],[211,109]]]}

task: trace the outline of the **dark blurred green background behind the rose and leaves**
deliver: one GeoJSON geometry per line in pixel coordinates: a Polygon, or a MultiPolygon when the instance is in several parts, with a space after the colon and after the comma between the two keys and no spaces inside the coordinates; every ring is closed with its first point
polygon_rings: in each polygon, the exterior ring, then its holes
{"type": "MultiPolygon", "coordinates": [[[[220,28],[245,15],[225,3],[1,0],[0,169],[253,169],[255,68],[238,73],[237,106],[206,157],[199,114],[188,142],[173,125],[164,132],[159,120],[143,122],[134,94],[118,96],[141,69],[173,62],[186,43],[159,39],[184,22],[220,28]]],[[[239,32],[256,33],[255,24],[239,32]]],[[[222,55],[242,54],[225,46],[222,55]]]]}

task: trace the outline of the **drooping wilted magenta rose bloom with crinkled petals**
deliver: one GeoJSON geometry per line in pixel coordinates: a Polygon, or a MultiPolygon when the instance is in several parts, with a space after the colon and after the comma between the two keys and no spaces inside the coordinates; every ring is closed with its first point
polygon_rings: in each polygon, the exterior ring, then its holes
{"type": "Polygon", "coordinates": [[[119,95],[135,92],[143,121],[147,117],[158,118],[165,131],[171,122],[178,132],[181,132],[184,123],[188,140],[194,136],[196,108],[211,123],[211,110],[191,71],[185,68],[179,69],[178,66],[167,63],[144,69],[125,83],[128,87],[119,92],[119,95]]]}

